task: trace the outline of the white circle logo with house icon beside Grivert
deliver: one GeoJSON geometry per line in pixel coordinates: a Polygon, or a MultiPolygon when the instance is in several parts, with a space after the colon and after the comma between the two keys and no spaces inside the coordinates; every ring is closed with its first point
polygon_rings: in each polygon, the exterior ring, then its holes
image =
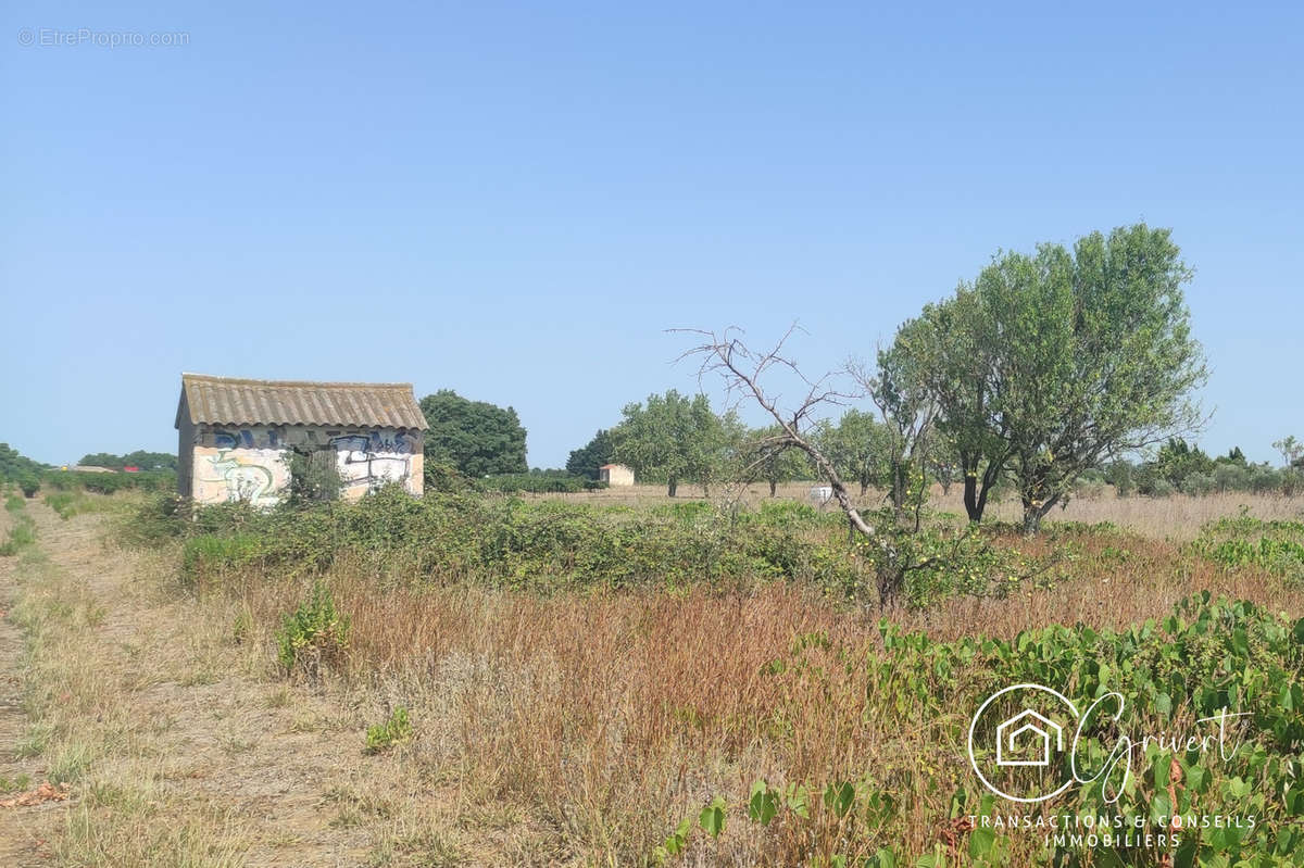
{"type": "Polygon", "coordinates": [[[999,689],[969,723],[969,762],[983,786],[1004,799],[1054,799],[1073,783],[1064,730],[1072,736],[1080,717],[1068,697],[1043,684],[999,689]]]}

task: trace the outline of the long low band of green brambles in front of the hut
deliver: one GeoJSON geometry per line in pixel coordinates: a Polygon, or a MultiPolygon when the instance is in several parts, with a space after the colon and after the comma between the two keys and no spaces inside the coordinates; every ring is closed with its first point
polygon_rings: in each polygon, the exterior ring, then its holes
{"type": "MultiPolygon", "coordinates": [[[[347,557],[382,584],[550,593],[780,580],[863,605],[878,601],[883,568],[850,545],[842,515],[788,500],[755,511],[703,500],[631,508],[438,493],[415,499],[391,486],[356,503],[312,508],[205,507],[189,521],[162,515],[160,502],[151,502],[141,516],[137,524],[155,538],[185,538],[181,572],[201,586],[220,586],[240,570],[259,579],[312,576],[347,557]]],[[[919,560],[930,559],[905,576],[913,605],[953,593],[1003,594],[1041,572],[1031,559],[947,523],[909,545],[919,560]],[[935,558],[943,554],[945,560],[935,558]]]]}

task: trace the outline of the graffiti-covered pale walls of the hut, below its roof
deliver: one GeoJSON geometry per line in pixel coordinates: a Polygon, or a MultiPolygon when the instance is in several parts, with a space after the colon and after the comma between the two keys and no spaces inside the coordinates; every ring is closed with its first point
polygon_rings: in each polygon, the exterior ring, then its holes
{"type": "Polygon", "coordinates": [[[254,506],[275,506],[289,493],[293,452],[326,448],[336,452],[343,498],[360,498],[387,482],[402,484],[409,494],[421,495],[420,431],[201,425],[190,431],[186,450],[184,429],[183,424],[181,464],[188,464],[189,451],[188,482],[196,503],[248,500],[254,506]]]}

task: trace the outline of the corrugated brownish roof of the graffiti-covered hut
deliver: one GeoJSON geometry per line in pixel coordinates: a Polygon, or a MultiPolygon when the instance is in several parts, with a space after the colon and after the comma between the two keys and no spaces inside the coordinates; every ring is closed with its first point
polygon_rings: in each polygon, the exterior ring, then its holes
{"type": "Polygon", "coordinates": [[[181,398],[196,425],[340,425],[421,431],[429,427],[412,383],[313,383],[181,374],[181,398]]]}

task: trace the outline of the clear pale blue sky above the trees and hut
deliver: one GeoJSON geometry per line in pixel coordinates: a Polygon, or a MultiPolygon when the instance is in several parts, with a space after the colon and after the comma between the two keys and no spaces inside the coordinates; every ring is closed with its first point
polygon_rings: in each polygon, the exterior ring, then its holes
{"type": "Polygon", "coordinates": [[[823,370],[1145,220],[1196,270],[1201,442],[1275,459],[1304,12],[1059,5],[5,4],[0,441],[172,450],[189,370],[455,388],[559,465],[695,388],[665,328],[795,319],[823,370]]]}

